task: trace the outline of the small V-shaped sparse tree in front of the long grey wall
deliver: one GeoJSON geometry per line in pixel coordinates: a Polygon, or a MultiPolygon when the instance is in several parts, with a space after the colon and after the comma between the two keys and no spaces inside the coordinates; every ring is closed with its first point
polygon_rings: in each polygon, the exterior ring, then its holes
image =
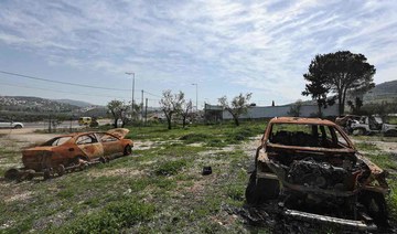
{"type": "Polygon", "coordinates": [[[239,126],[238,118],[242,114],[247,113],[248,109],[248,102],[251,97],[251,93],[248,93],[246,95],[239,94],[238,96],[234,97],[232,99],[232,104],[227,102],[227,97],[223,96],[218,98],[218,102],[221,106],[226,109],[228,113],[230,113],[236,126],[239,126]]]}

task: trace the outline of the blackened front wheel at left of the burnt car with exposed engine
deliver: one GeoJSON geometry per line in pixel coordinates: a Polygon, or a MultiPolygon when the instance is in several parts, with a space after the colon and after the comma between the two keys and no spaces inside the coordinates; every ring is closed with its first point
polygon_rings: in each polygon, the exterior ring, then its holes
{"type": "Polygon", "coordinates": [[[246,189],[246,200],[248,204],[260,205],[267,200],[277,199],[280,192],[280,184],[272,179],[256,179],[256,171],[249,177],[246,189]]]}

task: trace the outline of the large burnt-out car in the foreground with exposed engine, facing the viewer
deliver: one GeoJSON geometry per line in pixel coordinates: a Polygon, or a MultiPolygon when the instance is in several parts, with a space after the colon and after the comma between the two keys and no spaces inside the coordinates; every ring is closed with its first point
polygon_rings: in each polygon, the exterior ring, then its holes
{"type": "Polygon", "coordinates": [[[273,200],[285,215],[303,220],[374,230],[387,226],[385,177],[334,123],[280,117],[257,148],[246,200],[273,200]]]}

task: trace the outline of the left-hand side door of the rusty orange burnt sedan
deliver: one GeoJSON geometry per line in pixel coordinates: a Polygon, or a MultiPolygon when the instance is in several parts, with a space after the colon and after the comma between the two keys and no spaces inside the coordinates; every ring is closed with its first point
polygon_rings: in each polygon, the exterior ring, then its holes
{"type": "Polygon", "coordinates": [[[76,139],[76,145],[89,160],[104,156],[104,147],[100,142],[98,142],[95,134],[79,136],[76,139]]]}

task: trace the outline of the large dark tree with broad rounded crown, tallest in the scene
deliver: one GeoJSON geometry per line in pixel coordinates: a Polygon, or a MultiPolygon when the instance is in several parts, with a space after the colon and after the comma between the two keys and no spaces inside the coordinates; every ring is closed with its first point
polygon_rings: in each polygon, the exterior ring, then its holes
{"type": "MultiPolygon", "coordinates": [[[[309,73],[303,77],[311,77],[316,86],[322,84],[325,95],[328,92],[334,93],[339,100],[339,114],[343,115],[347,92],[367,92],[375,86],[375,66],[366,61],[363,54],[350,51],[316,55],[309,66],[309,73]]],[[[315,94],[321,96],[324,93],[320,91],[315,94]]],[[[312,93],[309,91],[309,94],[312,93]]]]}

